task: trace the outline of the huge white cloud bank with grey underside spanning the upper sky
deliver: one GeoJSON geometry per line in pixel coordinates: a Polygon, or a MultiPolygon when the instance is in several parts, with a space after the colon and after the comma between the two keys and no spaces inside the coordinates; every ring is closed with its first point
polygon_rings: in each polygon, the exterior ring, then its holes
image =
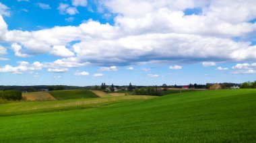
{"type": "MultiPolygon", "coordinates": [[[[74,15],[78,13],[75,6],[86,5],[84,1],[72,2],[72,6],[60,3],[57,9],[62,14],[74,15]]],[[[156,61],[164,64],[244,62],[256,58],[255,45],[232,39],[256,30],[256,23],[249,22],[256,18],[253,1],[107,0],[99,3],[103,11],[116,15],[113,25],[90,19],[79,26],[8,31],[0,16],[0,40],[17,43],[26,52],[21,54],[31,55],[49,53],[57,45],[71,46],[75,64],[79,66],[85,62],[126,66],[156,61]],[[185,9],[193,8],[202,12],[185,13],[185,9]]],[[[210,65],[214,64],[203,64],[210,65]]]]}

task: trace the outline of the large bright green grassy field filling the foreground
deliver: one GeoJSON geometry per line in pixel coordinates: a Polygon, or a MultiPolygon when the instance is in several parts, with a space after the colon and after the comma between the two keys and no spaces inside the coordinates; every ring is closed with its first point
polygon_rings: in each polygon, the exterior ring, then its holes
{"type": "Polygon", "coordinates": [[[255,142],[255,102],[253,89],[195,91],[0,117],[0,142],[255,142]]]}

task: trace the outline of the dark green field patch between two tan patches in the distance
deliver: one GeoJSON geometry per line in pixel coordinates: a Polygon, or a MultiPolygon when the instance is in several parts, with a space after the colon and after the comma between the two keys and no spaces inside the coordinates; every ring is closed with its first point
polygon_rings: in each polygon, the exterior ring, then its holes
{"type": "Polygon", "coordinates": [[[49,91],[49,93],[53,95],[53,97],[55,97],[57,100],[98,97],[96,94],[92,93],[92,91],[86,90],[49,91]]]}

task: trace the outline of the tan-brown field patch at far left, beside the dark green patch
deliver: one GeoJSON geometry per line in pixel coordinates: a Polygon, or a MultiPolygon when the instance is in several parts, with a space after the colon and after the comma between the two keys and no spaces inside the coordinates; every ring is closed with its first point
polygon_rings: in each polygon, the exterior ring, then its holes
{"type": "Polygon", "coordinates": [[[22,97],[29,101],[52,101],[56,100],[50,93],[47,92],[32,92],[22,93],[22,97]]]}

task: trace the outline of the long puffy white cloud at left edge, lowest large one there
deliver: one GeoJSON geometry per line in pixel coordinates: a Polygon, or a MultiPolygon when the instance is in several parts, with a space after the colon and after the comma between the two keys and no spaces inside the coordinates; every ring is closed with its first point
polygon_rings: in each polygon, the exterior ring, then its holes
{"type": "Polygon", "coordinates": [[[5,65],[0,67],[0,73],[24,73],[26,71],[41,70],[42,64],[40,62],[33,62],[30,64],[26,61],[19,62],[18,66],[5,65]]]}

